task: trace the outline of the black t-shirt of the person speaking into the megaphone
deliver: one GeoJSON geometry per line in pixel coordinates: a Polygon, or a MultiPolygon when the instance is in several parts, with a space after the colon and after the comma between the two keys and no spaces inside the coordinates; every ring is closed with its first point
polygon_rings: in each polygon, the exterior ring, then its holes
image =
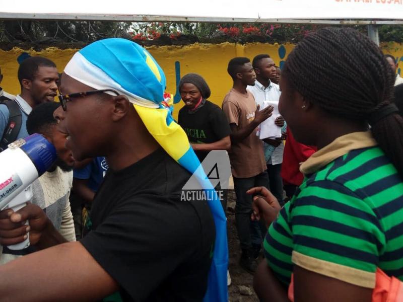
{"type": "Polygon", "coordinates": [[[161,148],[106,174],[81,243],[124,301],[203,299],[215,225],[206,201],[181,200],[189,177],[161,148]]]}

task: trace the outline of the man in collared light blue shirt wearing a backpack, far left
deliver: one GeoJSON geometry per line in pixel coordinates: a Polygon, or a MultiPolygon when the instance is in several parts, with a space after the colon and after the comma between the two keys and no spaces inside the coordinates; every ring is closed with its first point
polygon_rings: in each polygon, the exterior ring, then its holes
{"type": "MultiPolygon", "coordinates": [[[[18,68],[18,81],[21,85],[21,94],[15,97],[21,111],[22,124],[18,138],[28,136],[26,122],[32,108],[53,101],[57,92],[59,75],[56,65],[49,59],[35,56],[24,60],[18,68]]],[[[0,104],[0,139],[3,138],[10,111],[4,104],[0,104]]]]}

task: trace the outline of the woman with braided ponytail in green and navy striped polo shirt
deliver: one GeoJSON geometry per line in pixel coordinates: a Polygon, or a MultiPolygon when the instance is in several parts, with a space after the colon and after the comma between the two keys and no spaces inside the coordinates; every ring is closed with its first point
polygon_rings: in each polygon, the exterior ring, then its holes
{"type": "Polygon", "coordinates": [[[381,301],[390,277],[403,293],[403,119],[393,83],[379,47],[355,30],[321,29],[288,56],[279,111],[318,151],[280,212],[264,188],[248,191],[252,218],[270,225],[254,280],[261,300],[381,301]]]}

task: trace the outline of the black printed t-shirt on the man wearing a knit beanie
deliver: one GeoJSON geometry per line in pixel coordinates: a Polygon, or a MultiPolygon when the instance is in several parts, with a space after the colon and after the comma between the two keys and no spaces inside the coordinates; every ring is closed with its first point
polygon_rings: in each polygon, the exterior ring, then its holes
{"type": "MultiPolygon", "coordinates": [[[[185,130],[191,143],[212,143],[231,134],[227,117],[216,104],[206,100],[195,112],[183,107],[179,110],[178,124],[185,130]]],[[[195,152],[202,162],[208,152],[195,152]]]]}

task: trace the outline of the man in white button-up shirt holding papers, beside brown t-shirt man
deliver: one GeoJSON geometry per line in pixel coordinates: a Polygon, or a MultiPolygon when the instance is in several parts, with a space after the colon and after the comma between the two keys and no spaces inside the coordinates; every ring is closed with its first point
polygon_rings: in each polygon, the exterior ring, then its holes
{"type": "MultiPolygon", "coordinates": [[[[263,108],[263,101],[271,101],[274,103],[271,105],[278,106],[281,94],[280,87],[270,81],[270,78],[276,74],[274,60],[268,54],[258,54],[253,58],[252,65],[256,73],[256,81],[254,86],[248,86],[247,89],[253,94],[256,105],[260,105],[260,108],[263,108]]],[[[278,117],[273,127],[282,127],[283,125],[283,117],[278,117]]],[[[281,164],[283,163],[284,144],[281,138],[265,139],[263,147],[270,190],[282,204],[283,180],[281,178],[281,164]],[[272,154],[270,154],[270,149],[273,149],[273,147],[270,147],[270,145],[275,147],[272,154]]]]}

